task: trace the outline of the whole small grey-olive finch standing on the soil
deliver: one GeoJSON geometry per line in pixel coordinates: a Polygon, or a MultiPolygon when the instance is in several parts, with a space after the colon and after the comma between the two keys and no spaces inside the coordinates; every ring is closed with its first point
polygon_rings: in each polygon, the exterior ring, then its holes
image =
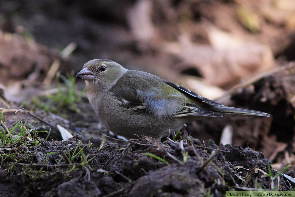
{"type": "Polygon", "coordinates": [[[110,131],[155,139],[178,131],[185,123],[220,113],[270,116],[268,113],[224,106],[185,87],[150,73],[127,70],[107,59],[84,64],[76,75],[85,80],[87,97],[110,131]]]}

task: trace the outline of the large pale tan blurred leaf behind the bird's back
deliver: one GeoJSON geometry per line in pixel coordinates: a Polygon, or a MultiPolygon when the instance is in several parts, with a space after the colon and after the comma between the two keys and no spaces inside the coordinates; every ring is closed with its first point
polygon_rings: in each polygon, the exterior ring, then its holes
{"type": "MultiPolygon", "coordinates": [[[[212,29],[212,28],[210,28],[212,29]]],[[[186,70],[194,68],[204,78],[207,84],[225,86],[240,79],[249,79],[253,74],[270,70],[273,67],[273,54],[266,45],[246,43],[240,41],[214,42],[218,40],[216,29],[210,33],[213,48],[209,45],[198,45],[189,39],[189,35],[182,34],[179,42],[163,43],[160,50],[178,56],[183,64],[176,65],[176,69],[186,70]],[[226,43],[229,48],[226,48],[226,43]],[[238,44],[240,43],[240,44],[238,44]],[[235,45],[235,47],[234,47],[235,45]]],[[[219,35],[225,35],[220,33],[219,35]]],[[[225,36],[223,36],[225,37],[225,36]]],[[[234,38],[238,40],[237,38],[234,38]]]]}

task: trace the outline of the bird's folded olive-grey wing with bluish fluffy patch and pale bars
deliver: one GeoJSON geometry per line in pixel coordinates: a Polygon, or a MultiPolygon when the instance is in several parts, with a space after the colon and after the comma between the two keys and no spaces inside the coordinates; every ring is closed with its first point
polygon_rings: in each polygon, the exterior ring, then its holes
{"type": "Polygon", "coordinates": [[[128,75],[123,75],[110,90],[118,95],[127,110],[154,115],[158,119],[191,115],[222,116],[219,113],[203,110],[194,102],[190,102],[182,91],[158,76],[141,71],[128,72],[128,75]]]}

